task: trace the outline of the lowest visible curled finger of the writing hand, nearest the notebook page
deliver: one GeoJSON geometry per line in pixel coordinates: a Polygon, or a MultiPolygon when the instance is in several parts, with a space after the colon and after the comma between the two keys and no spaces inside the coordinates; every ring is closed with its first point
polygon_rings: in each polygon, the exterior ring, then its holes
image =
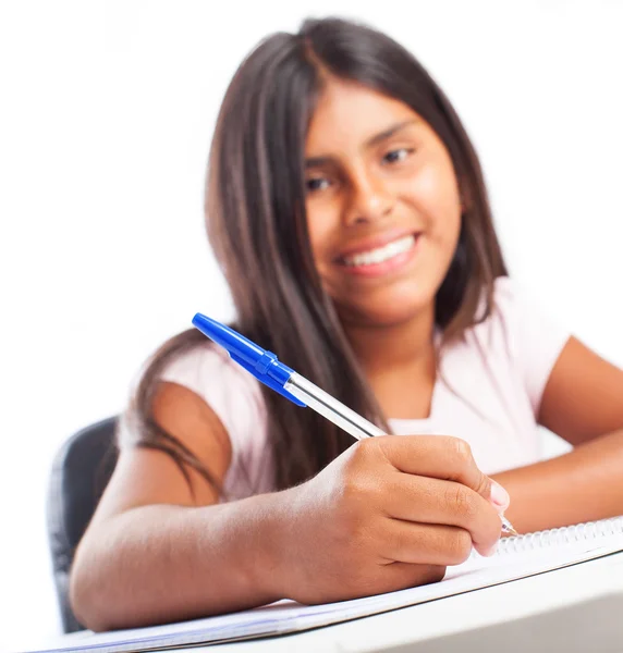
{"type": "Polygon", "coordinates": [[[393,562],[448,567],[464,563],[473,551],[469,531],[455,526],[390,519],[383,531],[382,553],[393,562]]]}

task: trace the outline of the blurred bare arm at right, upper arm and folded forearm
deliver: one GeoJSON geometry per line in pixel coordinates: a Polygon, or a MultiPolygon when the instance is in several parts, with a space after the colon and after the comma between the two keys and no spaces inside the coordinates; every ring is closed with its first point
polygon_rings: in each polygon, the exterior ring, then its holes
{"type": "Polygon", "coordinates": [[[623,370],[575,338],[546,386],[539,421],[575,448],[494,476],[522,532],[623,514],[623,370]]]}

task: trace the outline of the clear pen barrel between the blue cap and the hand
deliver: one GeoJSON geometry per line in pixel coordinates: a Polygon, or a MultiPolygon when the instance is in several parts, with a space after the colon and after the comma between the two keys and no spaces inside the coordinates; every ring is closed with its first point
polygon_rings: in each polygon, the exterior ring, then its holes
{"type": "Polygon", "coordinates": [[[344,406],[341,402],[327,394],[323,390],[294,372],[283,385],[283,390],[326,417],[353,438],[372,438],[386,433],[367,419],[344,406]]]}

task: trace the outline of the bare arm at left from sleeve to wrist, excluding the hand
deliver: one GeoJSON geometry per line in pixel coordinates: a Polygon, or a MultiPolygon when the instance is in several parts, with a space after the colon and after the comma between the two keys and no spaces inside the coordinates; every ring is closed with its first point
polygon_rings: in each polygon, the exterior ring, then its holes
{"type": "MultiPolygon", "coordinates": [[[[213,411],[192,392],[163,384],[155,416],[222,483],[231,445],[213,411]]],[[[71,600],[83,623],[147,625],[276,597],[259,546],[270,541],[264,529],[274,496],[218,505],[216,490],[190,473],[194,494],[169,455],[122,451],[72,568],[71,600]],[[242,546],[249,537],[255,545],[242,546]]]]}

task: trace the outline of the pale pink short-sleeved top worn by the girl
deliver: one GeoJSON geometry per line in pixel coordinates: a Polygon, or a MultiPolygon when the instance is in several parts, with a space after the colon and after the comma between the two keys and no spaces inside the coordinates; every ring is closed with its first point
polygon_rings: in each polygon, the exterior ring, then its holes
{"type": "MultiPolygon", "coordinates": [[[[493,313],[471,329],[464,342],[442,352],[430,416],[389,419],[395,434],[462,438],[486,473],[540,459],[536,416],[549,374],[570,336],[508,278],[497,280],[494,299],[493,313]]],[[[173,361],[161,378],[199,395],[229,433],[228,496],[243,498],[273,490],[259,382],[207,340],[173,361]]]]}

